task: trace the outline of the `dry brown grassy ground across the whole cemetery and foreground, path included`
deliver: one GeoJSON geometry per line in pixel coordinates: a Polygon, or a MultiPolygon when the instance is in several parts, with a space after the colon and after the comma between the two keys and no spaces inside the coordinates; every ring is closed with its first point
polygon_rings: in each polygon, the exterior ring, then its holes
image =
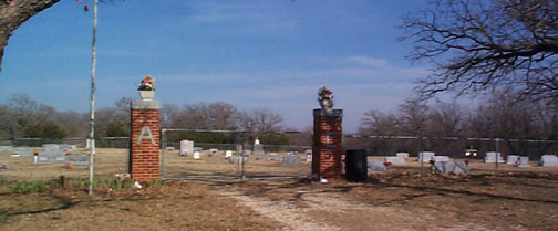
{"type": "MultiPolygon", "coordinates": [[[[143,189],[62,187],[60,176],[85,178],[86,169],[29,165],[32,158],[0,154],[13,170],[0,171],[0,230],[556,230],[558,168],[516,168],[472,161],[471,175],[421,177],[420,164],[391,166],[366,182],[304,179],[239,180],[223,156],[202,160],[167,153],[185,180],[143,189]],[[219,177],[220,176],[220,177],[219,177]],[[225,176],[225,177],[224,177],[225,176]],[[228,177],[226,177],[228,176],[228,177]],[[41,192],[14,192],[13,180],[45,182],[41,192]],[[48,180],[54,179],[54,180],[48,180]]],[[[280,156],[278,154],[277,156],[280,156]]],[[[308,162],[283,165],[250,157],[248,176],[291,176],[308,162]]],[[[372,159],[382,159],[371,157],[372,159]]],[[[126,150],[100,149],[99,177],[126,170],[126,150]]],[[[169,171],[169,174],[172,174],[169,171]]]]}

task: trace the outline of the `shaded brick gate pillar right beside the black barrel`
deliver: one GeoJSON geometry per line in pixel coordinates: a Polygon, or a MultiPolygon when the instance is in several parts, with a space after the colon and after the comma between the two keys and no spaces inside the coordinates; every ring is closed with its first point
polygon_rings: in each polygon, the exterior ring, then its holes
{"type": "Polygon", "coordinates": [[[342,109],[314,109],[312,145],[312,175],[326,179],[341,177],[343,148],[341,122],[342,109]]]}

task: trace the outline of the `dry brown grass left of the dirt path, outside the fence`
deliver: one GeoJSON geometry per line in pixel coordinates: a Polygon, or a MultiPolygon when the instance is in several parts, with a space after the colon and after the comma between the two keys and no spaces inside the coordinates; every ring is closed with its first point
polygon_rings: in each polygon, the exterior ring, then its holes
{"type": "Polygon", "coordinates": [[[53,189],[0,197],[0,230],[277,230],[280,225],[205,188],[173,182],[106,192],[53,189]]]}

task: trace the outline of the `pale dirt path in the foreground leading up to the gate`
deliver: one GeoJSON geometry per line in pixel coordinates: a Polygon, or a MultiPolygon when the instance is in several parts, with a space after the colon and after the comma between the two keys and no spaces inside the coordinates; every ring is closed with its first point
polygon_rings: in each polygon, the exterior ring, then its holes
{"type": "Polygon", "coordinates": [[[298,202],[247,196],[232,188],[219,193],[278,221],[283,230],[488,230],[478,223],[441,222],[427,213],[416,214],[401,207],[347,201],[338,193],[323,191],[297,191],[301,195],[298,202]],[[436,225],[432,225],[433,221],[436,225]]]}

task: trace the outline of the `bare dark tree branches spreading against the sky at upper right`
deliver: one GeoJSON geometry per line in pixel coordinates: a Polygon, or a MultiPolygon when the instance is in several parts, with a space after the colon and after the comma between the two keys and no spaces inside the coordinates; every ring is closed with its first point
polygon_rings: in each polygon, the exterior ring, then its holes
{"type": "Polygon", "coordinates": [[[513,86],[558,101],[558,1],[436,0],[403,18],[413,61],[430,61],[423,98],[513,86]]]}

